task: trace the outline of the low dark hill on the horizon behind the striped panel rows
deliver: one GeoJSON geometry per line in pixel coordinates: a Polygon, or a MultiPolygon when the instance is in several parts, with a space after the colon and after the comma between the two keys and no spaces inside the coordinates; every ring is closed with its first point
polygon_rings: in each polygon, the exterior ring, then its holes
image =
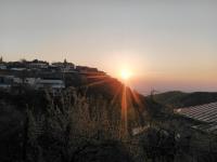
{"type": "Polygon", "coordinates": [[[154,99],[157,103],[164,104],[166,106],[180,108],[217,102],[217,92],[184,93],[181,91],[171,91],[155,94],[154,99]]]}

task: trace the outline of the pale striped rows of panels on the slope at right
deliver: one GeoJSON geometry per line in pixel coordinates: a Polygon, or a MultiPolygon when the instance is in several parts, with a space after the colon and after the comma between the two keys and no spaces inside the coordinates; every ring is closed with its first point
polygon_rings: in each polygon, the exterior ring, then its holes
{"type": "Polygon", "coordinates": [[[206,132],[217,132],[217,102],[187,108],[179,108],[176,110],[176,112],[205,123],[202,125],[194,125],[194,129],[206,132]]]}

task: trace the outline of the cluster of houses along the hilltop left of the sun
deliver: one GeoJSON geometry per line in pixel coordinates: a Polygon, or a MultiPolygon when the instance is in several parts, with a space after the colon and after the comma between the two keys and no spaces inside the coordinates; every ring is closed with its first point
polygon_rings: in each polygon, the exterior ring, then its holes
{"type": "Polygon", "coordinates": [[[0,58],[0,89],[28,86],[34,90],[52,90],[58,93],[66,87],[64,75],[105,75],[97,68],[75,66],[73,63],[52,63],[34,59],[27,62],[3,62],[0,58]],[[56,77],[59,73],[59,77],[56,77]],[[62,77],[60,77],[62,76],[62,77]]]}

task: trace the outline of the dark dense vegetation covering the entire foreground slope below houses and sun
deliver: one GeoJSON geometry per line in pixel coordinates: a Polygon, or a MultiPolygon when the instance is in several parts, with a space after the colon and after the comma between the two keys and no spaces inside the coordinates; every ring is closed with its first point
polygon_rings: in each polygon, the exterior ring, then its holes
{"type": "Polygon", "coordinates": [[[144,98],[126,89],[126,127],[124,86],[111,80],[86,87],[68,87],[60,96],[24,87],[17,93],[1,92],[0,161],[217,160],[216,136],[190,129],[197,122],[174,114],[154,96],[144,98]],[[141,132],[133,134],[135,127],[141,132]]]}

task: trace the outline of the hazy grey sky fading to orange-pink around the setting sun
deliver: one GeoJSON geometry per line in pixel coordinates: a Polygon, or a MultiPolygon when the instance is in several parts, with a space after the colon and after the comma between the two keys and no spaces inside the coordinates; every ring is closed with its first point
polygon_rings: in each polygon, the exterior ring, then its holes
{"type": "Polygon", "coordinates": [[[217,91],[215,0],[0,0],[4,60],[66,58],[151,90],[217,91]]]}

